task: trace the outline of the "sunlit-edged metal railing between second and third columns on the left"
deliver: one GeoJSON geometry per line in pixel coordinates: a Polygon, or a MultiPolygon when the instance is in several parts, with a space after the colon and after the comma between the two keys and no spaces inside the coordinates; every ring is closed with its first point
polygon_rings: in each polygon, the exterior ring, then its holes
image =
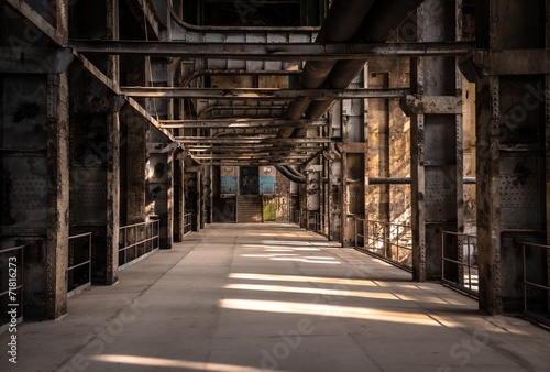
{"type": "Polygon", "coordinates": [[[123,226],[119,231],[119,270],[140,261],[161,247],[160,220],[123,226]]]}

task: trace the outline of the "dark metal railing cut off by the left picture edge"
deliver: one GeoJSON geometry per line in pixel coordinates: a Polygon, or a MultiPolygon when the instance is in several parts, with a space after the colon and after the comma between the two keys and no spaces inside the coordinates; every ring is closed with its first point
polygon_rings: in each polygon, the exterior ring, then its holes
{"type": "Polygon", "coordinates": [[[23,321],[23,277],[25,245],[0,250],[0,333],[8,330],[11,321],[23,321]],[[10,254],[8,254],[10,253],[10,254]],[[13,311],[11,315],[9,311],[13,311]],[[15,314],[16,313],[16,314],[15,314]]]}

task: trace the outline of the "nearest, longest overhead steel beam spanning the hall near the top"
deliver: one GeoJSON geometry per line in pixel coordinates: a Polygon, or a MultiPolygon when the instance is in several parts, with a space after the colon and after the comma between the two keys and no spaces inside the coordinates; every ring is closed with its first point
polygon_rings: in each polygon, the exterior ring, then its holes
{"type": "Polygon", "coordinates": [[[461,56],[475,44],[442,43],[185,43],[143,41],[72,40],[69,45],[80,53],[102,55],[148,55],[163,57],[304,61],[364,59],[370,56],[461,56]]]}

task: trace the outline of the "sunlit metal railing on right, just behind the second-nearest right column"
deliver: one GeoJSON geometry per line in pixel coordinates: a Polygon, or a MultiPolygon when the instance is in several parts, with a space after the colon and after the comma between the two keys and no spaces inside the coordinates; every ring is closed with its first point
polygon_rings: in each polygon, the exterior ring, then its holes
{"type": "Polygon", "coordinates": [[[355,249],[410,271],[413,230],[410,226],[353,218],[355,249]]]}

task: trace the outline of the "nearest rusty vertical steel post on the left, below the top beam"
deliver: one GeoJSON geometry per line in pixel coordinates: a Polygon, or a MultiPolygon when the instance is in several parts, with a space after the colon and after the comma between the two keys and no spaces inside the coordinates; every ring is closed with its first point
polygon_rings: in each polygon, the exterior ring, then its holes
{"type": "Polygon", "coordinates": [[[68,77],[47,77],[47,249],[46,318],[67,311],[69,237],[68,77]]]}

